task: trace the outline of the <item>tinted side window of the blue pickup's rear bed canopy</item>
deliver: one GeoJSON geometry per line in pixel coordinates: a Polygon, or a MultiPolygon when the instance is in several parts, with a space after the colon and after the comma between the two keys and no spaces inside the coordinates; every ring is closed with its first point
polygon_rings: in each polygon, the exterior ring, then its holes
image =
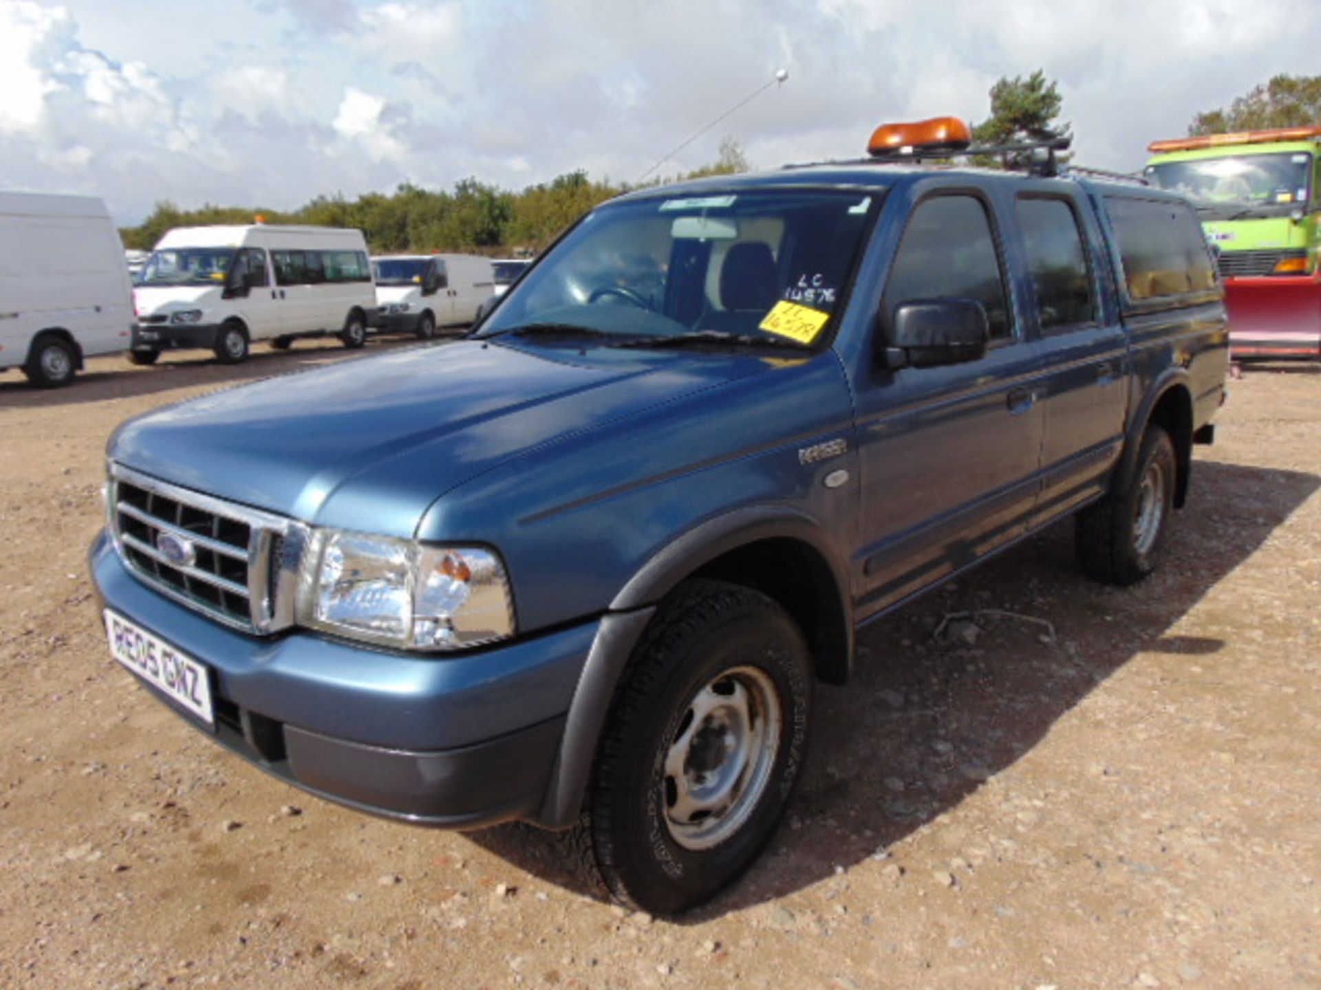
{"type": "Polygon", "coordinates": [[[1106,197],[1106,213],[1119,239],[1128,298],[1176,298],[1215,286],[1202,226],[1188,206],[1106,197]]]}

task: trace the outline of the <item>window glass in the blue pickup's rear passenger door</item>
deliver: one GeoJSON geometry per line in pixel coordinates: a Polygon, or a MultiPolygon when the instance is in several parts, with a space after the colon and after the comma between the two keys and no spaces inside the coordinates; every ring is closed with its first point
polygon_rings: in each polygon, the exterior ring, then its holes
{"type": "Polygon", "coordinates": [[[1073,207],[1065,199],[1020,197],[1015,211],[1028,247],[1041,329],[1095,322],[1087,252],[1073,207]]]}

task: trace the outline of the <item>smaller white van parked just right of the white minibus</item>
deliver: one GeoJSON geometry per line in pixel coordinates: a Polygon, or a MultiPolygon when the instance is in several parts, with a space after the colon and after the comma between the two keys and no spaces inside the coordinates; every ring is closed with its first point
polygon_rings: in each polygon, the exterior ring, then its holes
{"type": "Polygon", "coordinates": [[[491,260],[480,255],[383,255],[371,259],[376,330],[429,339],[437,326],[472,323],[494,288],[491,260]]]}

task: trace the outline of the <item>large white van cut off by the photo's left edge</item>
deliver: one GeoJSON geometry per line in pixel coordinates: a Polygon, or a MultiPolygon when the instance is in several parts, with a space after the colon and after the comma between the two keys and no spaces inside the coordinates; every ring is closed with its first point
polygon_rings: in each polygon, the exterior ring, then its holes
{"type": "Polygon", "coordinates": [[[67,385],[83,358],[128,346],[133,301],[106,205],[0,193],[0,371],[67,385]]]}

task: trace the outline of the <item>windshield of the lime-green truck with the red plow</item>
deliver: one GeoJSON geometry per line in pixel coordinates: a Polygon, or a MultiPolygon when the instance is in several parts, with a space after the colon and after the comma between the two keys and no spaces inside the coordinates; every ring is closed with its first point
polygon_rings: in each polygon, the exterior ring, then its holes
{"type": "Polygon", "coordinates": [[[1308,199],[1312,156],[1227,154],[1148,165],[1147,178],[1209,206],[1288,206],[1308,199]]]}

